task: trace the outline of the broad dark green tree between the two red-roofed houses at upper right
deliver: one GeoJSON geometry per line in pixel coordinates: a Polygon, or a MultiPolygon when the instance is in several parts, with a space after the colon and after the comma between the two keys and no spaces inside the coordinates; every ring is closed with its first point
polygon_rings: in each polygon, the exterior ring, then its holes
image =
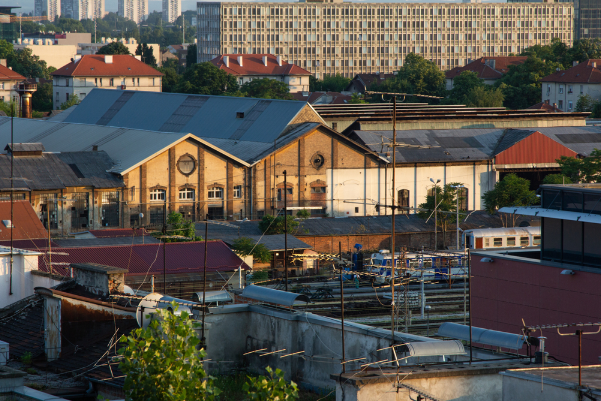
{"type": "Polygon", "coordinates": [[[509,109],[525,109],[540,102],[540,80],[557,69],[563,69],[562,64],[536,56],[529,56],[517,66],[510,66],[509,72],[495,82],[495,87],[501,89],[505,96],[504,106],[509,109]]]}

